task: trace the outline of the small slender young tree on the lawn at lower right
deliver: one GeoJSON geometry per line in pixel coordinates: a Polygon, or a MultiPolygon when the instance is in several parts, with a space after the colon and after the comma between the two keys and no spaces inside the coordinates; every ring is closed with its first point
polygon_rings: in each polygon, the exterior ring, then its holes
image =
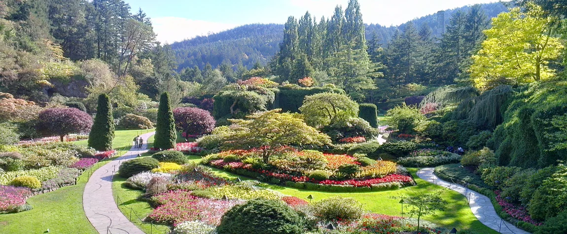
{"type": "Polygon", "coordinates": [[[417,216],[417,231],[420,231],[420,220],[422,216],[435,214],[436,211],[445,210],[447,202],[441,198],[444,190],[430,193],[407,191],[407,195],[392,197],[401,199],[403,204],[409,205],[408,214],[417,216]]]}

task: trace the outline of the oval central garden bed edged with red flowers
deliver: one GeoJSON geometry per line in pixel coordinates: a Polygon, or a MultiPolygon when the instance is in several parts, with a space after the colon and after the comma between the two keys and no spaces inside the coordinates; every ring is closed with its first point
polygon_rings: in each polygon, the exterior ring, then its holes
{"type": "Polygon", "coordinates": [[[259,149],[223,151],[203,163],[238,175],[298,189],[332,192],[376,191],[414,185],[405,168],[391,161],[362,155],[323,154],[319,151],[278,148],[268,163],[259,149]]]}

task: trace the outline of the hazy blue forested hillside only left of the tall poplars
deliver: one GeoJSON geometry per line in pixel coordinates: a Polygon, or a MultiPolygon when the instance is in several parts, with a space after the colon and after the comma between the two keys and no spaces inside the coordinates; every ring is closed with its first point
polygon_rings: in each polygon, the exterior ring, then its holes
{"type": "Polygon", "coordinates": [[[213,67],[228,61],[234,65],[250,68],[260,61],[269,59],[280,49],[284,25],[282,24],[247,24],[209,36],[200,36],[191,40],[175,42],[179,70],[195,65],[204,67],[209,62],[213,67]]]}

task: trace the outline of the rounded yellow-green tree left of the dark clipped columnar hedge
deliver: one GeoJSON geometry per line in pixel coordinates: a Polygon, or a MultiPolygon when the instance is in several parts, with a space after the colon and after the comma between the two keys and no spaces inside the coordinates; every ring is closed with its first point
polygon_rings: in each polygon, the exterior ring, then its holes
{"type": "Polygon", "coordinates": [[[323,92],[306,96],[299,108],[308,125],[323,127],[337,118],[358,117],[358,104],[349,96],[323,92]]]}

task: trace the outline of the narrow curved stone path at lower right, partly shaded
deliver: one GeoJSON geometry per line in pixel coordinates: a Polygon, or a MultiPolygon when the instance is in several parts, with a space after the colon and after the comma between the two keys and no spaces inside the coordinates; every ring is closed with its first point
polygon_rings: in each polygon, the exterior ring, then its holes
{"type": "Polygon", "coordinates": [[[492,202],[490,202],[490,198],[471,189],[467,189],[464,186],[443,181],[435,176],[433,171],[434,168],[423,168],[418,171],[417,176],[433,184],[455,190],[467,198],[470,197],[469,206],[471,206],[472,214],[474,214],[484,225],[497,232],[500,230],[500,233],[504,234],[530,234],[530,232],[519,229],[506,221],[503,221],[501,224],[502,219],[498,216],[498,214],[496,214],[496,210],[494,210],[494,206],[492,205],[492,202]]]}

